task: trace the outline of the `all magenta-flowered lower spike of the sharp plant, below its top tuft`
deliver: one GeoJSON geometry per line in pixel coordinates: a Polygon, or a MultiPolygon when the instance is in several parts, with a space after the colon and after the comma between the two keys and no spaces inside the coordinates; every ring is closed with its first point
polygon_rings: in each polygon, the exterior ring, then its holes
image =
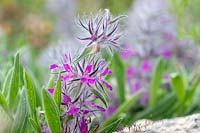
{"type": "MultiPolygon", "coordinates": [[[[65,131],[87,133],[92,115],[106,111],[101,104],[95,103],[99,97],[93,90],[103,94],[106,93],[105,88],[112,90],[112,86],[105,80],[112,71],[105,60],[96,55],[85,57],[77,63],[72,60],[69,55],[64,55],[62,64],[51,64],[49,68],[55,77],[61,74],[62,119],[69,115],[73,117],[65,131]]],[[[54,87],[48,88],[48,92],[53,95],[54,87]]]]}

